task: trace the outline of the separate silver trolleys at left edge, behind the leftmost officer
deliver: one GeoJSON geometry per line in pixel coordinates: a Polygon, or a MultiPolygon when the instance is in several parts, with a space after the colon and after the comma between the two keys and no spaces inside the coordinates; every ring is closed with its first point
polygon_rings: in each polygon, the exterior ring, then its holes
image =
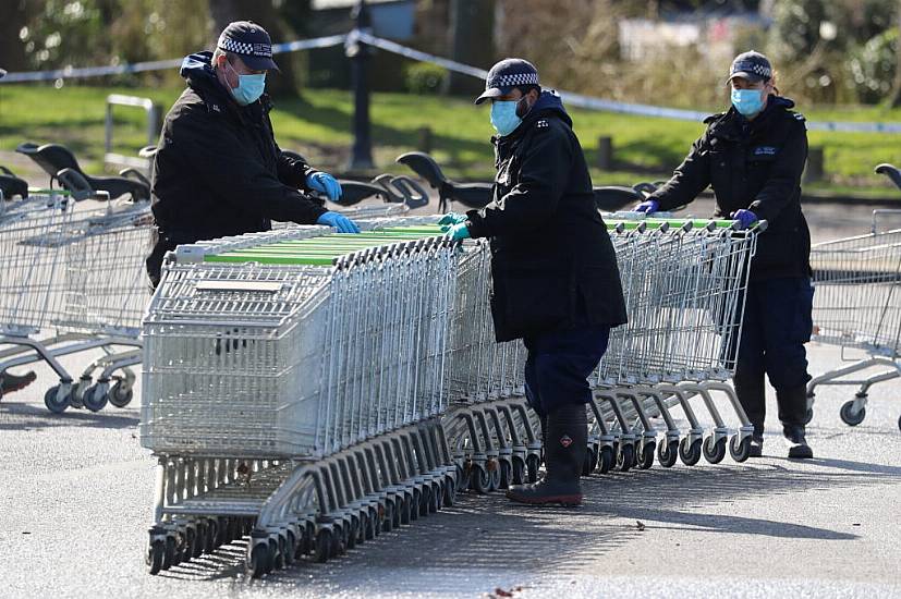
{"type": "Polygon", "coordinates": [[[59,377],[45,394],[50,411],[131,401],[150,225],[146,201],[76,208],[61,190],[0,200],[0,372],[49,365],[59,377]],[[98,350],[77,379],[59,362],[98,350]]]}

